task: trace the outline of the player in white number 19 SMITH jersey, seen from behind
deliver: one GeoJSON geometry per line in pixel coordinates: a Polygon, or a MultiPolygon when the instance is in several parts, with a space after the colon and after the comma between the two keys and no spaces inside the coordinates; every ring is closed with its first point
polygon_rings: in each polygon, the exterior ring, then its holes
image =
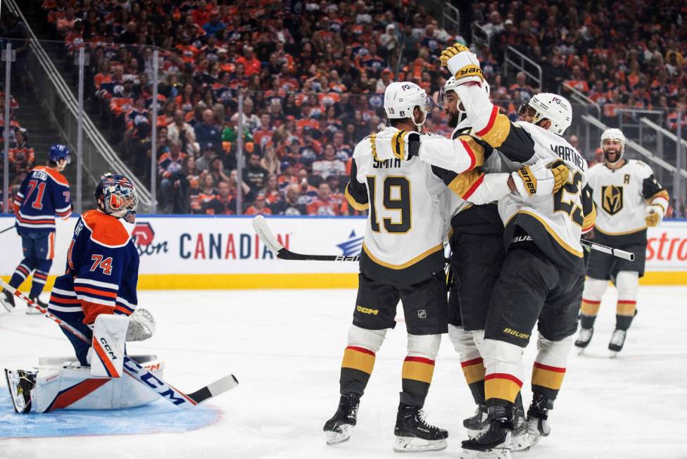
{"type": "Polygon", "coordinates": [[[351,436],[375,354],[386,330],[396,325],[396,306],[401,300],[408,356],[403,362],[393,448],[446,448],[448,432],[429,425],[421,411],[441,334],[447,330],[445,186],[431,172],[430,164],[463,172],[484,163],[484,156],[460,143],[453,145],[450,139],[420,136],[416,130],[421,130],[429,107],[427,94],[416,84],[390,84],[384,94],[384,110],[391,127],[355,146],[346,199],[353,208],[368,210],[368,218],[353,325],[341,363],[341,399],[324,425],[327,444],[339,444],[351,436]],[[446,141],[448,149],[434,149],[435,140],[446,141]]]}

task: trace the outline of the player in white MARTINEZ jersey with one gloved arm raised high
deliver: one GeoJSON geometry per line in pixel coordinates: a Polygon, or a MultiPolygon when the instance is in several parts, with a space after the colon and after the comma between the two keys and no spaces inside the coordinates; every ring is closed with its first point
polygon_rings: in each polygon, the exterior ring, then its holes
{"type": "MultiPolygon", "coordinates": [[[[508,457],[513,405],[524,373],[522,348],[529,343],[534,325],[539,331],[538,354],[527,413],[534,441],[549,432],[548,411],[565,375],[584,281],[579,239],[594,218],[593,204],[583,202],[581,193],[587,165],[560,137],[572,121],[565,98],[538,94],[520,108],[521,121],[513,123],[484,94],[479,61],[465,46],[450,46],[441,61],[458,82],[455,92],[484,142],[510,161],[527,165],[551,158],[570,171],[569,181],[554,194],[535,193],[527,200],[509,194],[498,203],[506,256],[489,301],[482,346],[490,425],[474,439],[463,441],[462,457],[508,457]]],[[[536,190],[536,180],[529,180],[527,187],[536,190]]]]}

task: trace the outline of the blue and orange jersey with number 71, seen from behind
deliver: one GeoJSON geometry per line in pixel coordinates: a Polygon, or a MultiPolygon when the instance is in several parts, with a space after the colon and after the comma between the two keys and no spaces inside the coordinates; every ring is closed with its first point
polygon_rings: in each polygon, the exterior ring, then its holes
{"type": "Polygon", "coordinates": [[[37,166],[24,178],[14,205],[20,234],[55,232],[55,217],[66,219],[72,213],[69,183],[60,172],[37,166]]]}

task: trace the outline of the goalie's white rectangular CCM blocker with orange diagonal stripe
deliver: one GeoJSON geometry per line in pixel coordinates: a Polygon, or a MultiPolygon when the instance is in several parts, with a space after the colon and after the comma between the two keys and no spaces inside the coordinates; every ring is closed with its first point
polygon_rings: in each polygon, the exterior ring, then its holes
{"type": "Polygon", "coordinates": [[[96,317],[91,353],[92,376],[122,376],[128,327],[129,317],[125,315],[101,314],[96,317]]]}

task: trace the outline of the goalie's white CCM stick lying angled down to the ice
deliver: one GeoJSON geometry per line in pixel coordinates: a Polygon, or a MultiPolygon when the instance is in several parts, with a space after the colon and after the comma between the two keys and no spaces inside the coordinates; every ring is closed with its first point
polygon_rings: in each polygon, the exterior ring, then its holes
{"type": "MultiPolygon", "coordinates": [[[[59,317],[52,315],[44,308],[38,306],[37,303],[12,287],[3,279],[0,279],[0,286],[17,298],[20,298],[20,300],[24,301],[28,306],[41,311],[45,317],[53,320],[53,322],[57,322],[60,327],[67,330],[75,337],[81,339],[89,345],[91,344],[91,340],[88,339],[82,332],[64,322],[59,317]]],[[[224,394],[226,391],[234,389],[234,387],[239,385],[239,381],[234,375],[228,375],[211,384],[208,384],[207,386],[201,387],[201,389],[198,389],[191,394],[184,394],[184,392],[179,391],[179,389],[175,389],[175,387],[171,384],[168,384],[162,379],[159,379],[153,375],[153,373],[149,372],[149,370],[143,367],[140,363],[132,358],[129,358],[128,356],[124,356],[124,372],[127,373],[127,375],[130,375],[130,377],[136,379],[141,384],[144,384],[144,386],[149,387],[149,389],[156,391],[160,397],[182,408],[192,408],[195,405],[198,405],[198,403],[209,400],[210,398],[220,394],[224,394]]]]}

